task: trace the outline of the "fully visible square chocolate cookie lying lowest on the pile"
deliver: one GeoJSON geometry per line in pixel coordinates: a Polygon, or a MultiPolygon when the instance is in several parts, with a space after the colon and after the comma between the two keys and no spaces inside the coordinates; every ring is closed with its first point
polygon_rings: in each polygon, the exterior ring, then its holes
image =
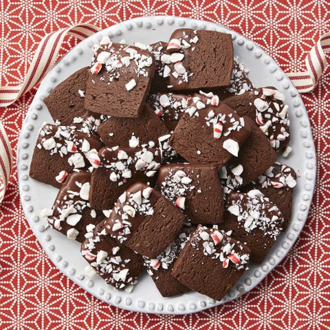
{"type": "Polygon", "coordinates": [[[250,248],[224,232],[199,225],[173,267],[173,276],[201,294],[221,300],[250,259],[250,248]]]}

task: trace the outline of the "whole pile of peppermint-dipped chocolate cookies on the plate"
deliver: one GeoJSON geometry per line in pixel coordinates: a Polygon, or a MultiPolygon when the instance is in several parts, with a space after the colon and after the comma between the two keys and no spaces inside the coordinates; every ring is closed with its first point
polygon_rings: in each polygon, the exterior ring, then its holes
{"type": "Polygon", "coordinates": [[[230,34],[93,50],[45,98],[30,176],[59,191],[42,216],[116,289],[146,270],[162,296],[221,300],[291,217],[283,94],[254,88],[230,34]]]}

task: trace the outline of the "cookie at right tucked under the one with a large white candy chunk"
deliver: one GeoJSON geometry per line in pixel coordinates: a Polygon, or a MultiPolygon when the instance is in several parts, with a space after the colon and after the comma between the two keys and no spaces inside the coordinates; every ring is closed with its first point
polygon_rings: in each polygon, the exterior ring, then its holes
{"type": "Polygon", "coordinates": [[[239,157],[232,157],[219,173],[221,184],[230,189],[249,184],[276,161],[276,153],[269,140],[253,120],[244,117],[251,126],[251,133],[241,146],[239,157]]]}

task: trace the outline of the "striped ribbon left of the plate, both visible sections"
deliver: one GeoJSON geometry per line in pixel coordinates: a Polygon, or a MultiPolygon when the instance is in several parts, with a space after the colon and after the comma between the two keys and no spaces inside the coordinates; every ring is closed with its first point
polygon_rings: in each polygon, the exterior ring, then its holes
{"type": "MultiPolygon", "coordinates": [[[[52,69],[66,35],[75,36],[78,40],[86,39],[100,28],[91,24],[77,24],[47,34],[39,43],[32,63],[21,86],[0,87],[0,107],[8,107],[26,92],[30,91],[52,69]]],[[[5,129],[0,122],[0,203],[5,195],[10,173],[12,172],[12,149],[5,129]]]]}

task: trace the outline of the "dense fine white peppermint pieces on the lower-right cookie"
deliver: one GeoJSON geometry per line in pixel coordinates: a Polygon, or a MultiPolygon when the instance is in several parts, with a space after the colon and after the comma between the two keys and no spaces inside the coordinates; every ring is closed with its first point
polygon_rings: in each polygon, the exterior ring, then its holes
{"type": "Polygon", "coordinates": [[[246,232],[262,230],[274,241],[281,233],[283,215],[260,190],[254,189],[248,193],[231,192],[227,197],[226,209],[237,217],[237,222],[246,232]]]}

